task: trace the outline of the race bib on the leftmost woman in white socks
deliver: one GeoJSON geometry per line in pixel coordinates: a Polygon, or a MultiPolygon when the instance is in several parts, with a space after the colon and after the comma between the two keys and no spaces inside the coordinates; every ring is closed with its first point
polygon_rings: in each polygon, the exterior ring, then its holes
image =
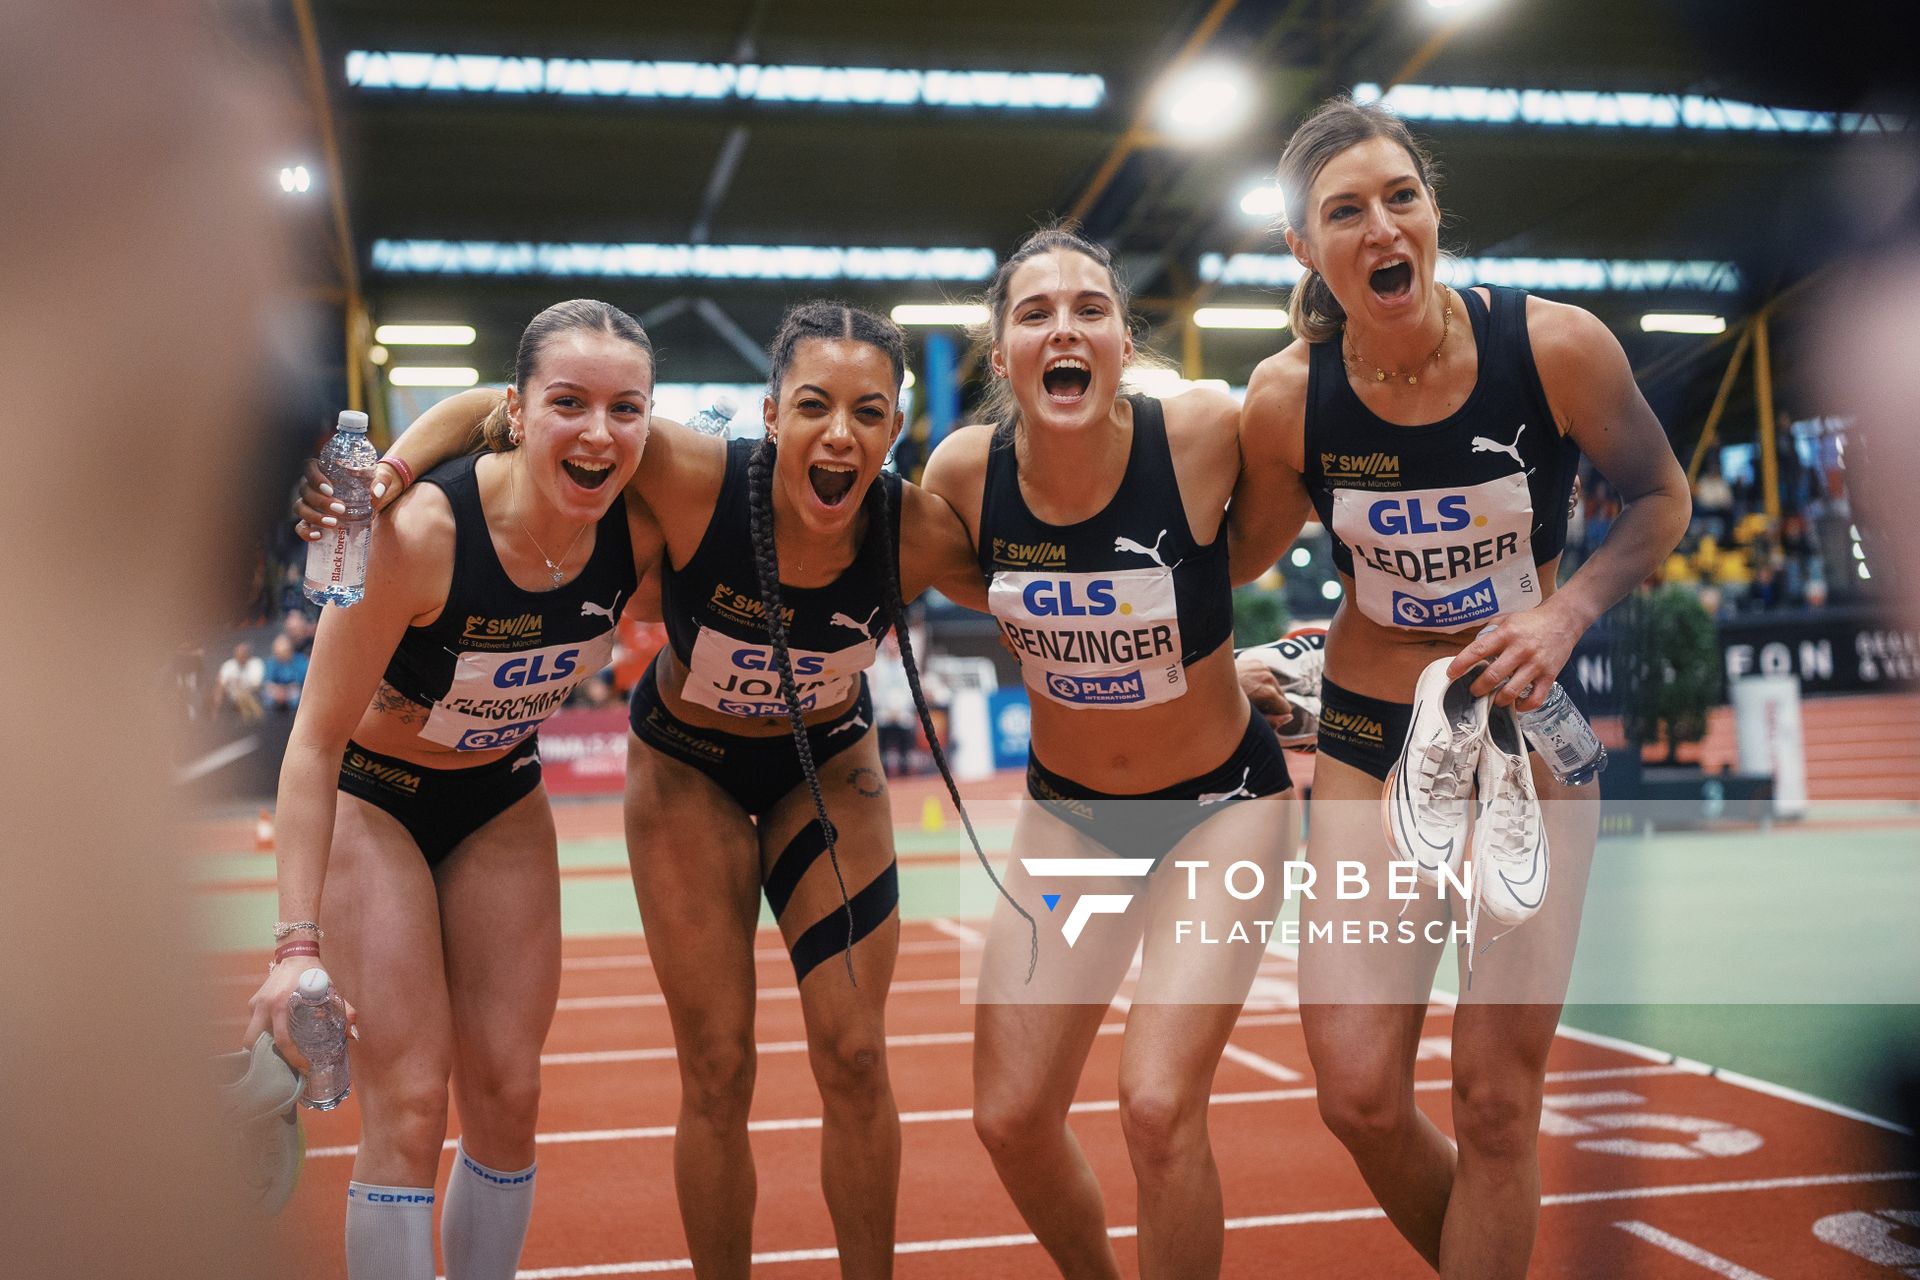
{"type": "Polygon", "coordinates": [[[513,747],[557,712],[574,685],[609,662],[612,631],[516,652],[461,652],[453,685],[434,702],[420,737],[453,750],[513,747]]]}

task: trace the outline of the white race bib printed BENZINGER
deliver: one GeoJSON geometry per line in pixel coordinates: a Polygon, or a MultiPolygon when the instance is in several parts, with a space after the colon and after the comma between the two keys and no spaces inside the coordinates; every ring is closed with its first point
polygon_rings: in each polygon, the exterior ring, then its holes
{"type": "Polygon", "coordinates": [[[998,570],[987,608],[1027,687],[1066,706],[1152,706],[1187,691],[1173,570],[998,570]]]}

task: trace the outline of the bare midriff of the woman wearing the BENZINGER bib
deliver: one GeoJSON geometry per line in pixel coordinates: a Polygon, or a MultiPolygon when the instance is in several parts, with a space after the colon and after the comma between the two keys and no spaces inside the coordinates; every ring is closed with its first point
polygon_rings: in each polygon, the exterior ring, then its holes
{"type": "Polygon", "coordinates": [[[1187,668],[1187,693],[1139,710],[1033,702],[1033,754],[1054,773],[1108,794],[1160,791],[1223,764],[1252,714],[1225,643],[1187,668]]]}

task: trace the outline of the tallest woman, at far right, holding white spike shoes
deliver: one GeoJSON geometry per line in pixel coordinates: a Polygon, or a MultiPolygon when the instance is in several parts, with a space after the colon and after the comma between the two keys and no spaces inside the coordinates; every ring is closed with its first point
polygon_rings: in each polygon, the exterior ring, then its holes
{"type": "MultiPolygon", "coordinates": [[[[1432,169],[1398,117],[1327,104],[1294,132],[1279,178],[1286,244],[1308,271],[1292,294],[1302,342],[1263,361],[1248,386],[1235,576],[1271,564],[1311,499],[1334,535],[1344,597],[1327,637],[1308,860],[1323,883],[1336,860],[1365,860],[1369,883],[1386,885],[1382,791],[1405,764],[1415,704],[1438,706],[1450,681],[1488,725],[1478,764],[1453,773],[1459,804],[1475,785],[1484,802],[1530,777],[1553,860],[1538,915],[1496,950],[1482,938],[1453,1015],[1453,1142],[1415,1107],[1413,1059],[1457,896],[1425,890],[1409,904],[1402,919],[1415,942],[1302,946],[1319,1109],[1386,1217],[1442,1276],[1523,1276],[1540,1215],[1546,1055],[1599,804],[1596,787],[1565,787],[1538,760],[1528,771],[1511,714],[1548,699],[1580,635],[1678,543],[1686,478],[1597,319],[1517,290],[1434,280],[1432,169]],[[1555,589],[1580,453],[1626,509],[1555,589]],[[1498,631],[1478,629],[1496,616],[1498,631]],[[1486,695],[1490,704],[1476,702],[1486,695]]],[[[1496,831],[1496,816],[1482,810],[1482,825],[1496,831]]],[[[1496,890],[1484,892],[1488,912],[1500,910],[1496,890]]],[[[1394,921],[1400,910],[1379,892],[1304,898],[1302,935],[1327,925],[1340,936],[1348,921],[1394,921]]]]}

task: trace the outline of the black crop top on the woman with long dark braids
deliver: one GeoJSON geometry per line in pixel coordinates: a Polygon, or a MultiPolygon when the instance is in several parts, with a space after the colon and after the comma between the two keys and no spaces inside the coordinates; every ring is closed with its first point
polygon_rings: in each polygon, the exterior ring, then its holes
{"type": "MultiPolygon", "coordinates": [[[[701,545],[684,568],[666,564],[660,612],[666,641],[687,668],[680,697],[728,716],[785,716],[780,668],[766,635],[766,604],[753,557],[747,466],[755,439],[732,439],[720,499],[701,545]]],[[[895,562],[900,547],[900,478],[881,472],[887,486],[895,562]]],[[[787,624],[787,656],[801,710],[839,706],[874,662],[887,618],[887,557],[874,537],[860,543],[854,562],[824,587],[780,583],[787,624]]]]}

